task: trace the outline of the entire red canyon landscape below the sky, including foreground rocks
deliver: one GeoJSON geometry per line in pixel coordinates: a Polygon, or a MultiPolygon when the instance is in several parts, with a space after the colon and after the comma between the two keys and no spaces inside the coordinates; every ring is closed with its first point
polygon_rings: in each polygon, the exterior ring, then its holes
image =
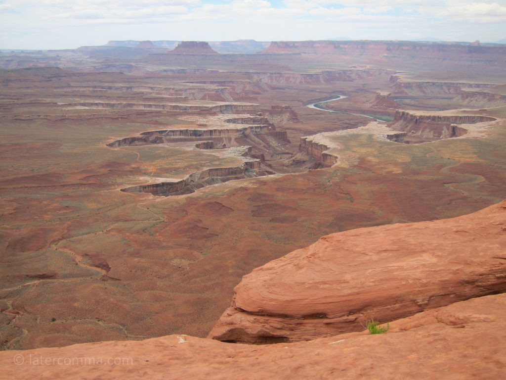
{"type": "Polygon", "coordinates": [[[505,54],[2,52],[3,373],[503,377],[505,54]]]}

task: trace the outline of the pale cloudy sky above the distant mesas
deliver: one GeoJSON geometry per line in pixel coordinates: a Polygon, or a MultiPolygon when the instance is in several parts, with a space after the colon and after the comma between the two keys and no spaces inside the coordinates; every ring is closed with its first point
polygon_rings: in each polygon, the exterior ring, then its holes
{"type": "Polygon", "coordinates": [[[336,37],[494,42],[506,0],[0,0],[1,49],[336,37]]]}

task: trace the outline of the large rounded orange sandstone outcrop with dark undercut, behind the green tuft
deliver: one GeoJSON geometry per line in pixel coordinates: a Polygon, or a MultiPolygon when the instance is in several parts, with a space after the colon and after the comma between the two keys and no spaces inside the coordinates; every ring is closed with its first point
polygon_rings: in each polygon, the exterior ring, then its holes
{"type": "Polygon", "coordinates": [[[360,331],[506,290],[506,201],[322,237],[243,277],[209,337],[279,343],[360,331]]]}

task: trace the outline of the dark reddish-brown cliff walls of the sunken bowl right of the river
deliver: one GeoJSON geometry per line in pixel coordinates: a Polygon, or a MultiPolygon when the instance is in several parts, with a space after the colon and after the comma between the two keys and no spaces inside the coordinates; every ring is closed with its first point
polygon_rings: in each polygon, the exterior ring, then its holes
{"type": "Polygon", "coordinates": [[[468,131],[456,124],[476,124],[496,120],[479,115],[432,115],[398,110],[389,128],[405,132],[405,143],[421,143],[445,138],[459,137],[468,131]]]}

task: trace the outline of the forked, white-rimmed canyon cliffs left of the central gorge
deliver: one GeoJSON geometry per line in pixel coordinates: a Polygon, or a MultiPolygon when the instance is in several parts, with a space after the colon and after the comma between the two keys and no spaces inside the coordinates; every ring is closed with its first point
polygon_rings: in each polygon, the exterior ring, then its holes
{"type": "MultiPolygon", "coordinates": [[[[275,109],[275,111],[290,111],[290,109],[275,109]]],[[[206,119],[204,119],[205,121],[206,119]]],[[[121,191],[134,193],[150,193],[155,196],[174,196],[190,194],[197,189],[224,183],[236,179],[252,178],[275,174],[275,163],[271,160],[266,164],[265,156],[278,154],[291,155],[284,150],[289,143],[286,131],[277,130],[269,119],[260,115],[240,116],[235,118],[208,119],[216,128],[207,124],[198,124],[200,128],[165,129],[142,132],[139,136],[125,137],[107,144],[109,147],[166,144],[180,142],[196,142],[198,149],[225,149],[242,147],[241,156],[245,162],[237,167],[212,168],[190,174],[185,179],[149,183],[123,188],[121,191]],[[235,128],[234,126],[235,125],[235,128]],[[230,126],[230,128],[226,128],[230,126]],[[243,126],[243,127],[239,127],[243,126]]],[[[240,148],[239,148],[240,149],[240,148]]],[[[235,153],[240,154],[240,153],[235,153]]],[[[280,161],[277,159],[277,161],[280,161]]],[[[308,161],[309,158],[308,158],[308,161]]],[[[301,166],[301,163],[297,163],[301,166]]],[[[308,167],[311,163],[308,164],[308,167]]],[[[302,170],[302,169],[300,169],[302,170]]]]}

